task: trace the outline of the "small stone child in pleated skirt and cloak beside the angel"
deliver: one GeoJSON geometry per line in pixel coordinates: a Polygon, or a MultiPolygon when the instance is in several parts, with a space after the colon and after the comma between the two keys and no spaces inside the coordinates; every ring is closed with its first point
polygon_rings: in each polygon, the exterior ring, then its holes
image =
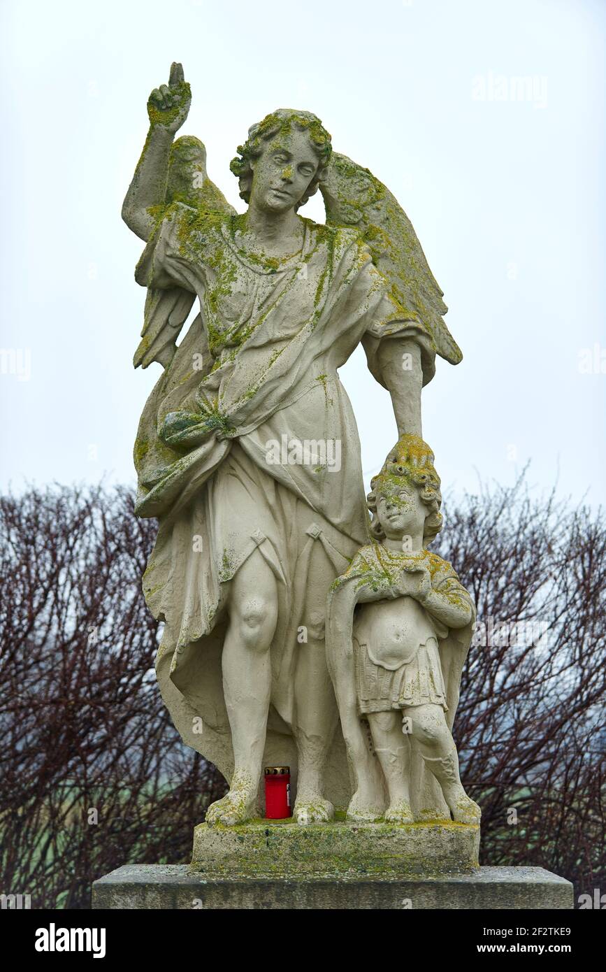
{"type": "Polygon", "coordinates": [[[387,791],[389,822],[480,821],[451,731],[475,610],[451,565],[425,546],[442,529],[433,462],[421,438],[400,438],[371,482],[374,539],[328,595],[328,664],[354,782],[350,819],[384,816],[387,791]]]}

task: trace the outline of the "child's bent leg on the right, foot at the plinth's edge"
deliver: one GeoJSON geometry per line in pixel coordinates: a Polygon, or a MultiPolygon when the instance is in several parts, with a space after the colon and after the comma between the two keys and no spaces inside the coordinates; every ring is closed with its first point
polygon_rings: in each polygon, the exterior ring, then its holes
{"type": "Polygon", "coordinates": [[[442,787],[453,819],[459,823],[479,823],[481,811],[467,796],[458,774],[455,740],[441,706],[415,706],[404,712],[411,719],[412,737],[417,742],[424,764],[442,787]]]}

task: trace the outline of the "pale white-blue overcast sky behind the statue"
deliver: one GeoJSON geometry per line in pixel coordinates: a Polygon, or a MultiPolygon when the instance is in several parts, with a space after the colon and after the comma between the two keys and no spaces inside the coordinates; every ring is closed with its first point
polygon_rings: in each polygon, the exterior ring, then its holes
{"type": "MultiPolygon", "coordinates": [[[[145,292],[120,205],[146,100],[181,60],[209,174],[278,107],[315,112],[412,219],[462,348],[423,392],[444,487],[478,475],[602,502],[604,42],[600,0],[12,2],[1,7],[2,480],[134,481],[159,365],[132,369],[145,292]],[[512,79],[528,95],[512,98],[512,79]],[[500,87],[499,87],[500,86],[500,87]],[[505,87],[503,87],[505,86],[505,87]],[[500,92],[507,100],[496,100],[500,92]],[[29,357],[28,357],[29,356],[29,357]],[[13,371],[19,364],[28,380],[13,371]],[[8,373],[4,373],[8,372],[8,373]]],[[[303,210],[323,219],[320,196],[303,210]]],[[[395,439],[363,353],[341,371],[363,468],[395,439]]],[[[367,476],[367,478],[368,478],[367,476]]]]}

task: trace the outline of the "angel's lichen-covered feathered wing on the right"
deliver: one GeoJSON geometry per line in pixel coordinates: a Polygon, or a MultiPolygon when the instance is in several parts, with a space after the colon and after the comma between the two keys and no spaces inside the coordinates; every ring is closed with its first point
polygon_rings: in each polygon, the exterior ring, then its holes
{"type": "Polygon", "coordinates": [[[394,195],[368,169],[333,153],[320,183],[329,226],[356,228],[392,294],[431,334],[436,353],[451,364],[462,355],[444,323],[448,307],[421,249],[414,226],[394,195]]]}

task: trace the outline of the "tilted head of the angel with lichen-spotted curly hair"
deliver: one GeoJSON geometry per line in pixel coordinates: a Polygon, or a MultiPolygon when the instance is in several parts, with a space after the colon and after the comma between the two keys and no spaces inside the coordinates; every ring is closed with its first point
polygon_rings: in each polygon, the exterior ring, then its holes
{"type": "Polygon", "coordinates": [[[317,191],[332,147],[330,135],[311,112],[280,108],[249,128],[231,171],[240,197],[260,209],[298,209],[317,191]]]}

